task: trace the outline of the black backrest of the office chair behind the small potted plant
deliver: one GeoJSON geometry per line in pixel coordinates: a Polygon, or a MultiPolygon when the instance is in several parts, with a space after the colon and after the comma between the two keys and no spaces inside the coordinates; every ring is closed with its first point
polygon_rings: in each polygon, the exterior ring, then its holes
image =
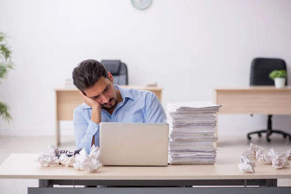
{"type": "MultiPolygon", "coordinates": [[[[251,65],[250,85],[275,85],[269,78],[273,70],[287,70],[286,63],[278,58],[255,58],[251,65]]],[[[287,85],[287,79],[286,83],[287,85]]]]}

